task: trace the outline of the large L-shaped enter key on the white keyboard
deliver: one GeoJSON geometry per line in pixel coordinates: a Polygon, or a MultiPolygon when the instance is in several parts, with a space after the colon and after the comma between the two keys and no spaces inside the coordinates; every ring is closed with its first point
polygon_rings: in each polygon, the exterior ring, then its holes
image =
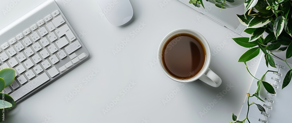
{"type": "Polygon", "coordinates": [[[76,39],[75,35],[73,34],[73,32],[71,31],[67,24],[58,28],[55,32],[57,33],[59,38],[61,38],[61,36],[63,35],[66,35],[70,42],[76,39]]]}

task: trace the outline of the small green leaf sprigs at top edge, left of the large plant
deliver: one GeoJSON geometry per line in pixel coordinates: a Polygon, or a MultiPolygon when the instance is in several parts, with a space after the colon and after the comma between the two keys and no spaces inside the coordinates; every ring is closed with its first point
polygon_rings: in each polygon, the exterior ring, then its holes
{"type": "MultiPolygon", "coordinates": [[[[209,1],[209,0],[206,0],[206,1],[209,1]]],[[[215,2],[215,6],[217,6],[218,8],[221,8],[221,10],[227,8],[224,5],[225,2],[230,2],[230,3],[234,2],[234,0],[210,0],[210,1],[215,2]]],[[[201,7],[201,5],[202,5],[203,8],[205,8],[203,0],[190,0],[189,3],[193,4],[196,7],[201,7]]]]}

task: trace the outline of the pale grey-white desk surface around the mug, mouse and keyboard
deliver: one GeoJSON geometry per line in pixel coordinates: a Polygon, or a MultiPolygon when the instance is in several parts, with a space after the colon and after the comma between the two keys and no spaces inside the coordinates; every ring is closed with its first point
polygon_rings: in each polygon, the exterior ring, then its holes
{"type": "MultiPolygon", "coordinates": [[[[0,28],[42,1],[21,0],[6,15],[0,13],[0,28]]],[[[232,112],[239,114],[252,81],[244,63],[237,63],[247,49],[231,38],[240,35],[177,0],[130,1],[135,16],[133,21],[117,27],[100,16],[102,10],[95,0],[57,0],[91,58],[18,104],[5,116],[6,122],[45,122],[47,117],[50,117],[50,123],[143,123],[143,119],[148,123],[231,122],[232,112]],[[161,4],[165,6],[161,8],[161,4]],[[202,18],[198,20],[198,17],[202,18]],[[132,37],[129,33],[140,23],[146,25],[132,37]],[[214,54],[210,68],[223,81],[219,88],[199,80],[182,85],[165,76],[159,65],[155,64],[159,43],[166,34],[177,28],[194,29],[208,40],[214,54]],[[82,32],[86,34],[81,35],[82,32]],[[112,50],[128,37],[131,41],[114,55],[112,50]],[[155,65],[151,67],[150,63],[155,65]],[[93,69],[99,71],[96,76],[92,76],[93,69]],[[91,80],[84,83],[87,77],[91,80]],[[121,91],[128,90],[131,81],[136,83],[135,86],[123,95],[121,91]],[[76,94],[74,88],[79,85],[84,88],[76,94]],[[229,90],[227,85],[234,87],[229,90]],[[163,100],[167,95],[172,97],[171,91],[176,88],[180,91],[164,105],[163,100]],[[76,95],[67,102],[65,97],[72,92],[76,95]],[[220,98],[220,92],[225,93],[224,97],[220,98]],[[102,109],[107,110],[107,105],[116,97],[120,100],[104,114],[102,109]],[[208,103],[214,99],[217,103],[210,109],[208,103]],[[199,112],[203,112],[204,108],[210,110],[201,117],[199,112]]],[[[10,3],[1,1],[0,9],[6,9],[10,3]]],[[[248,63],[253,66],[253,73],[257,64],[258,60],[248,63]]]]}

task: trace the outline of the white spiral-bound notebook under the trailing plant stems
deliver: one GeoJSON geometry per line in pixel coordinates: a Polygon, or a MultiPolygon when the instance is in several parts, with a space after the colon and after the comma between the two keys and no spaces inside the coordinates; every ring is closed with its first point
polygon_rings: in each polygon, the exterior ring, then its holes
{"type": "MultiPolygon", "coordinates": [[[[277,68],[267,68],[265,58],[262,55],[258,68],[256,70],[256,78],[261,78],[267,70],[278,71],[278,73],[268,72],[263,79],[271,83],[274,87],[276,94],[269,94],[261,85],[259,97],[265,102],[258,100],[256,97],[249,98],[249,102],[260,104],[265,108],[266,112],[260,112],[256,105],[251,105],[249,108],[248,119],[251,123],[291,123],[292,117],[292,83],[282,90],[282,84],[286,73],[289,70],[288,65],[277,58],[274,58],[277,68]]],[[[292,66],[291,64],[289,64],[292,66]]],[[[252,95],[257,90],[257,79],[253,79],[249,93],[252,95]]],[[[241,108],[238,120],[244,120],[247,113],[247,98],[241,108]]],[[[248,122],[246,120],[246,122],[248,122]]]]}

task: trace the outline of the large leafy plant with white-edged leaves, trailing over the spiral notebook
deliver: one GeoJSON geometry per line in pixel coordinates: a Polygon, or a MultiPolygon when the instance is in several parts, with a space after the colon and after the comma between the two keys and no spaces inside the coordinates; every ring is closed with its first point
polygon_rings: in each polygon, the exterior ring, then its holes
{"type": "MultiPolygon", "coordinates": [[[[286,51],[286,59],[279,59],[288,65],[286,60],[292,57],[292,0],[245,0],[244,5],[244,15],[237,15],[237,17],[242,24],[248,26],[244,32],[250,34],[250,37],[233,38],[233,40],[240,46],[249,49],[239,58],[238,62],[243,62],[246,65],[247,61],[258,56],[260,51],[262,51],[265,54],[267,67],[276,67],[272,56],[279,57],[272,52],[277,50],[286,51]],[[266,37],[263,36],[264,33],[267,33],[266,37]]],[[[292,69],[289,65],[288,67],[290,70],[286,73],[283,80],[282,89],[291,81],[292,69]]],[[[246,69],[249,72],[247,65],[246,69]]],[[[275,71],[268,70],[267,72],[275,71]]],[[[240,121],[237,120],[236,115],[232,114],[234,123],[244,123],[246,120],[250,123],[248,113],[250,106],[253,104],[255,104],[261,112],[265,112],[263,106],[254,102],[249,102],[249,98],[251,97],[263,101],[263,99],[259,97],[261,83],[267,92],[275,94],[273,86],[263,81],[265,74],[263,74],[260,79],[251,74],[253,78],[258,80],[258,88],[252,95],[247,93],[248,111],[246,118],[240,121]]]]}

